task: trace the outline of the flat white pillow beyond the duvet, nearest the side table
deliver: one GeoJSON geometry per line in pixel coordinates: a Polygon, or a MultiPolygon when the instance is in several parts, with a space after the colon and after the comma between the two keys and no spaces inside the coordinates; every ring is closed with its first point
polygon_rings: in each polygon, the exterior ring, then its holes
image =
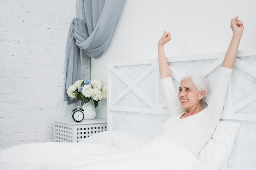
{"type": "Polygon", "coordinates": [[[125,150],[137,150],[151,139],[143,135],[124,131],[103,131],[94,133],[90,137],[79,140],[79,142],[89,142],[96,144],[106,144],[125,150]]]}

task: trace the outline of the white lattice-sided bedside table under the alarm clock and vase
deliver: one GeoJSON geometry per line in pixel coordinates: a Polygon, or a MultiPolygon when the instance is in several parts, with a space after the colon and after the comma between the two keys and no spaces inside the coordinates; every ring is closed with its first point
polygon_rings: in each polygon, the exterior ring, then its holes
{"type": "Polygon", "coordinates": [[[54,120],[54,142],[78,142],[81,139],[107,130],[107,120],[96,118],[74,122],[54,120]]]}

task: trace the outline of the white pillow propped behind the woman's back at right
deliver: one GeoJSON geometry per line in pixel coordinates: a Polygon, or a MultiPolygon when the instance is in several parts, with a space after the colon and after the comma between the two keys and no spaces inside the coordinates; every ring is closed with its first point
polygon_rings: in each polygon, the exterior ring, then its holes
{"type": "Polygon", "coordinates": [[[216,170],[226,170],[240,125],[241,122],[220,121],[211,139],[198,155],[198,160],[216,170]]]}

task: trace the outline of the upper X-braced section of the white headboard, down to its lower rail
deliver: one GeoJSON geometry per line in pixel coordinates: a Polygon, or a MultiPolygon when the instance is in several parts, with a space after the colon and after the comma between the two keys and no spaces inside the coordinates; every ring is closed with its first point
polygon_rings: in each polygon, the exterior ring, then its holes
{"type": "MultiPolygon", "coordinates": [[[[214,78],[225,52],[167,57],[175,85],[190,72],[203,74],[209,82],[211,96],[214,78]]],[[[227,90],[222,119],[256,120],[256,49],[238,51],[227,90]]],[[[157,59],[109,63],[108,126],[111,111],[167,114],[162,95],[157,59]]],[[[111,128],[110,128],[111,129],[111,128]]]]}

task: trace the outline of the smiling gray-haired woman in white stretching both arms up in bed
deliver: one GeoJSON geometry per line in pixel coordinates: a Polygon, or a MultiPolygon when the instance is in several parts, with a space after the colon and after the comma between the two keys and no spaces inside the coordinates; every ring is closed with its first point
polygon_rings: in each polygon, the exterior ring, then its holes
{"type": "Polygon", "coordinates": [[[171,34],[164,31],[158,42],[160,78],[168,111],[171,115],[163,124],[162,135],[175,137],[195,157],[198,156],[213,135],[222,114],[228,82],[244,29],[243,22],[238,20],[237,16],[231,20],[231,29],[233,36],[206,108],[202,106],[208,89],[205,78],[199,74],[183,77],[177,94],[164,53],[164,44],[171,40],[171,34]]]}

